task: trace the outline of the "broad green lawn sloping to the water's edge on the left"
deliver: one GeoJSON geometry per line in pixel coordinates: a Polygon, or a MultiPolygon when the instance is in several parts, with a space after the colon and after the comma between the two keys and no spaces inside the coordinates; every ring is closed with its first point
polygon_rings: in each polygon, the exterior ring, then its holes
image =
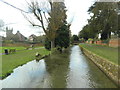
{"type": "Polygon", "coordinates": [[[23,50],[9,55],[2,55],[2,74],[0,74],[0,76],[6,77],[16,67],[34,60],[36,52],[41,55],[49,54],[49,51],[46,49],[39,48],[33,50],[23,50]]]}

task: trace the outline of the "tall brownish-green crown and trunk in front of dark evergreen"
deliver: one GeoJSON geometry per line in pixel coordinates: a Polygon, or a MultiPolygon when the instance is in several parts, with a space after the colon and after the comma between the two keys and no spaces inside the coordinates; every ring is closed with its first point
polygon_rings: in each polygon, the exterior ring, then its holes
{"type": "Polygon", "coordinates": [[[59,30],[59,28],[64,25],[64,22],[67,18],[65,4],[63,2],[54,2],[49,15],[48,39],[51,41],[51,48],[54,48],[55,38],[58,33],[57,30],[59,30]]]}

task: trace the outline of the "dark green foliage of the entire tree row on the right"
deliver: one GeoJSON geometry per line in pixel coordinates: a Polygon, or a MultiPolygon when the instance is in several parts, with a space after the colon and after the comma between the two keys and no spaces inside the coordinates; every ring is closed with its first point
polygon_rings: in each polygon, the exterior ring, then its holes
{"type": "Polygon", "coordinates": [[[105,40],[111,38],[111,33],[119,36],[117,2],[95,2],[88,12],[92,16],[79,32],[79,37],[94,39],[101,34],[101,39],[105,40]]]}

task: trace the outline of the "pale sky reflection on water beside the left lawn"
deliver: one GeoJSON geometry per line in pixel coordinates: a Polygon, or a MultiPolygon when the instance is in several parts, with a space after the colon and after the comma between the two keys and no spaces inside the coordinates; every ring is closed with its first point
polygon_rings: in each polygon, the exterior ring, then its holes
{"type": "Polygon", "coordinates": [[[10,76],[3,80],[3,87],[20,88],[39,86],[44,87],[44,79],[47,77],[44,60],[38,63],[34,60],[24,66],[20,66],[14,70],[10,76]]]}

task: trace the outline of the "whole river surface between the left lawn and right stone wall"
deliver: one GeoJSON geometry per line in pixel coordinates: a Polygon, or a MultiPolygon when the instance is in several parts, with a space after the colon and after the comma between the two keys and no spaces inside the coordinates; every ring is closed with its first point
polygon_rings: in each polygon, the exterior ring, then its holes
{"type": "Polygon", "coordinates": [[[62,54],[33,60],[0,80],[3,88],[115,88],[115,84],[75,45],[62,54]]]}

